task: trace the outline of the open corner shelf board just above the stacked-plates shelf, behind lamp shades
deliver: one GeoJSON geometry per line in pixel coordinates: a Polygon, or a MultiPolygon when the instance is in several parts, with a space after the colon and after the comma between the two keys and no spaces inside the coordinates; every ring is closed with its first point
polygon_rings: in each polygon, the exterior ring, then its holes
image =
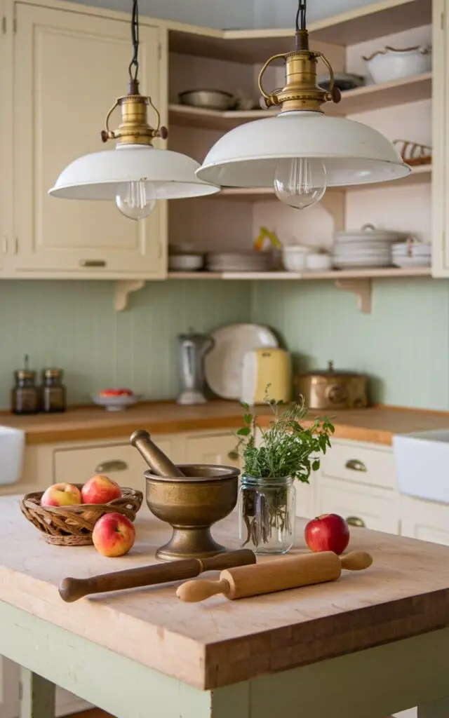
{"type": "MultiPolygon", "coordinates": [[[[353,185],[352,187],[329,187],[328,192],[361,192],[362,190],[382,189],[388,185],[392,187],[409,187],[410,185],[420,185],[432,180],[432,165],[419,164],[412,167],[412,174],[408,177],[402,177],[401,180],[392,180],[391,182],[378,182],[375,185],[353,185]]],[[[240,202],[262,202],[267,200],[277,200],[274,190],[269,187],[225,187],[218,195],[206,195],[204,199],[208,200],[236,200],[240,202]]]]}

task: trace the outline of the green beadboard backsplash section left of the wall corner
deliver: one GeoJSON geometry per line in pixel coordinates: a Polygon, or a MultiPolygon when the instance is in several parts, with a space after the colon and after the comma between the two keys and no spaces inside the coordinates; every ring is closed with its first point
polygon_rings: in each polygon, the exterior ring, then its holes
{"type": "Polygon", "coordinates": [[[14,368],[65,370],[70,404],[87,404],[106,386],[148,398],[177,394],[176,336],[249,321],[248,282],[148,282],[114,310],[114,282],[0,282],[0,407],[9,408],[14,368]]]}

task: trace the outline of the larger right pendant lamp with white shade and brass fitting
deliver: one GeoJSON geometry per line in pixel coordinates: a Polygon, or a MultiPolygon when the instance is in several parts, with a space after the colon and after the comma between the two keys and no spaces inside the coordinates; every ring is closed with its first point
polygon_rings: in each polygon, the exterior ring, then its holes
{"type": "Polygon", "coordinates": [[[325,116],[321,106],[338,103],[333,70],[321,52],[309,49],[306,0],[296,16],[295,50],[274,55],[259,74],[259,90],[276,117],[246,123],[223,135],[197,170],[197,177],[223,187],[272,187],[279,200],[303,209],[319,202],[326,187],[397,180],[411,171],[394,146],[369,126],[325,116]],[[317,85],[321,58],[330,88],[317,85]],[[262,78],[273,60],[286,67],[284,88],[265,92],[262,78]]]}

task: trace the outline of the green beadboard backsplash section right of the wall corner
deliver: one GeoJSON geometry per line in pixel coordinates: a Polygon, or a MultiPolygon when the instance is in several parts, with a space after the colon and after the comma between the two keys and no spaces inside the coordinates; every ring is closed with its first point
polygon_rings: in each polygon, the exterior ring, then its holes
{"type": "Polygon", "coordinates": [[[384,404],[449,409],[449,281],[379,279],[371,314],[330,281],[254,284],[252,319],[272,325],[302,370],[351,369],[371,376],[384,404]]]}

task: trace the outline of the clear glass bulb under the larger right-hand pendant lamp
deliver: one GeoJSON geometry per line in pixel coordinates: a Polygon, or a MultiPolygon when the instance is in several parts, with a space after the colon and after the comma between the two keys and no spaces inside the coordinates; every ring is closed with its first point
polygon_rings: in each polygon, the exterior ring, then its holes
{"type": "Polygon", "coordinates": [[[303,210],[319,202],[326,191],[326,169],[320,159],[279,159],[274,192],[281,202],[303,210]]]}

